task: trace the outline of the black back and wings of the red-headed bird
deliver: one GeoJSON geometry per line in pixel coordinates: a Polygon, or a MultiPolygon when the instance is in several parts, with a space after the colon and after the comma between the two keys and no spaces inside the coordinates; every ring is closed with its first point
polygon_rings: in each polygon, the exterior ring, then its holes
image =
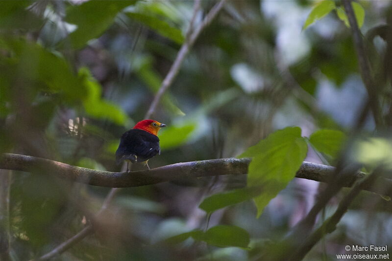
{"type": "Polygon", "coordinates": [[[160,153],[159,138],[143,130],[129,130],[121,136],[119,148],[116,151],[116,161],[123,160],[143,162],[160,153]]]}

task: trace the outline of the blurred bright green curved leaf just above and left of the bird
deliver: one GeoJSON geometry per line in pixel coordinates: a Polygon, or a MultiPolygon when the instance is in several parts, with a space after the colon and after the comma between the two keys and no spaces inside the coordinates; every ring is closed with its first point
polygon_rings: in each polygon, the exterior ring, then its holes
{"type": "Polygon", "coordinates": [[[101,98],[102,87],[91,76],[90,71],[85,67],[81,68],[79,76],[88,92],[87,97],[83,100],[83,107],[86,112],[90,116],[109,119],[116,124],[123,125],[127,119],[126,114],[120,107],[101,98]]]}

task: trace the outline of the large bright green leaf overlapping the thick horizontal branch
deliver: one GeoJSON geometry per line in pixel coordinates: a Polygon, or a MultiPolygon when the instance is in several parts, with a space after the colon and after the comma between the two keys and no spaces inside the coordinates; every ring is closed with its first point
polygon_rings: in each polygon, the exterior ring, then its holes
{"type": "Polygon", "coordinates": [[[253,157],[248,169],[248,184],[262,186],[263,192],[254,198],[257,217],[264,207],[294,178],[308,147],[301,129],[288,127],[275,131],[238,157],[253,157]]]}

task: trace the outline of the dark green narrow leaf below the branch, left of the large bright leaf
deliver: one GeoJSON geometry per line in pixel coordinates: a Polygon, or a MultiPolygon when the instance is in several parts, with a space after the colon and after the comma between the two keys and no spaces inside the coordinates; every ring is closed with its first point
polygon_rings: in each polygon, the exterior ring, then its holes
{"type": "Polygon", "coordinates": [[[260,195],[260,193],[261,189],[259,187],[246,187],[229,192],[222,192],[204,198],[203,202],[199,205],[199,208],[207,213],[212,213],[218,209],[251,199],[260,195]]]}

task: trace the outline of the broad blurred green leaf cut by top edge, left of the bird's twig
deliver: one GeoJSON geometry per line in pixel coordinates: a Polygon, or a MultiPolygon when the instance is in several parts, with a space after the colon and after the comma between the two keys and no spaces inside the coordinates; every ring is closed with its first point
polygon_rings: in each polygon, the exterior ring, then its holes
{"type": "Polygon", "coordinates": [[[73,5],[65,17],[65,21],[77,25],[77,29],[69,36],[73,48],[81,48],[90,39],[99,37],[121,10],[135,3],[135,0],[90,0],[73,5]]]}

